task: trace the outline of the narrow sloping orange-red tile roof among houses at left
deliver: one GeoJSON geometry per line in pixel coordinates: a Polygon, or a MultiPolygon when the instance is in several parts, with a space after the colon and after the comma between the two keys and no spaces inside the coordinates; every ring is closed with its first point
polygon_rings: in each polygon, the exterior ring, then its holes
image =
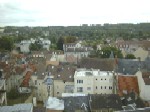
{"type": "Polygon", "coordinates": [[[31,78],[32,72],[28,71],[21,83],[21,87],[29,87],[29,81],[31,78]]]}

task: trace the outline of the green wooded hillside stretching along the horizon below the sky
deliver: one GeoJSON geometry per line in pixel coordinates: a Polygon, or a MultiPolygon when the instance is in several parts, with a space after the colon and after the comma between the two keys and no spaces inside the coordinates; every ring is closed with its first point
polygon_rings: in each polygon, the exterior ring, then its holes
{"type": "Polygon", "coordinates": [[[20,37],[46,37],[56,43],[59,37],[76,36],[80,40],[101,40],[103,38],[125,40],[132,38],[146,39],[150,36],[150,23],[140,24],[104,24],[82,26],[48,26],[48,27],[5,27],[5,33],[17,34],[20,37]],[[45,36],[44,32],[48,31],[45,36]]]}

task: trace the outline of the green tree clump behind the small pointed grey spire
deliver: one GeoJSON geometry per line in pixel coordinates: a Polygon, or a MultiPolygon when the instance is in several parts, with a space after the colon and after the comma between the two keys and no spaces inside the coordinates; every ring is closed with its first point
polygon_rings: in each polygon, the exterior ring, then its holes
{"type": "Polygon", "coordinates": [[[122,58],[123,55],[120,50],[115,47],[104,47],[101,51],[98,51],[97,55],[101,58],[109,58],[110,54],[113,52],[114,57],[122,58]]]}

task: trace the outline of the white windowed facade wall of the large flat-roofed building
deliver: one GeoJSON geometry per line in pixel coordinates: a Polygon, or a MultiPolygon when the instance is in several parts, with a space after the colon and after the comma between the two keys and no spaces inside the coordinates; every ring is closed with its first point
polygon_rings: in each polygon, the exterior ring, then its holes
{"type": "Polygon", "coordinates": [[[97,75],[86,76],[84,75],[84,72],[77,73],[76,71],[74,76],[74,86],[75,93],[78,93],[78,87],[82,87],[83,92],[80,93],[84,94],[112,94],[113,75],[101,75],[101,72],[98,74],[97,71],[97,75]],[[82,80],[83,83],[78,83],[79,80],[82,80]]]}

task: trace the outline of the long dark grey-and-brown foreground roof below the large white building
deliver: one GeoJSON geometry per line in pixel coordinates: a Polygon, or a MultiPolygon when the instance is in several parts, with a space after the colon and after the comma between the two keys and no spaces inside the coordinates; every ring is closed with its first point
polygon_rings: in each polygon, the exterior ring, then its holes
{"type": "Polygon", "coordinates": [[[116,94],[89,94],[87,96],[64,97],[63,100],[64,111],[66,112],[75,112],[76,110],[85,111],[85,107],[87,112],[106,108],[113,108],[115,110],[122,109],[122,102],[116,94]]]}

